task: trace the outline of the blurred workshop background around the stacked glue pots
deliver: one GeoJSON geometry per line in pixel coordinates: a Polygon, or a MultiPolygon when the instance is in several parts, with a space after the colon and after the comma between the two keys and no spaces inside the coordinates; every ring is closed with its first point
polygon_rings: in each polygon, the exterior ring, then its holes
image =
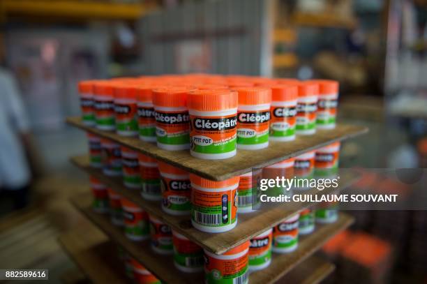
{"type": "MultiPolygon", "coordinates": [[[[22,103],[17,132],[31,172],[24,204],[0,193],[0,267],[49,268],[57,281],[75,267],[56,239],[87,222],[68,203],[87,190],[68,162],[87,140],[65,124],[80,114],[80,80],[338,80],[339,120],[370,128],[343,144],[342,167],[427,165],[425,0],[0,0],[0,24],[1,88],[22,103]]],[[[426,211],[353,214],[351,230],[324,248],[338,266],[327,281],[427,282],[426,211]],[[369,259],[360,256],[370,248],[369,259]]]]}

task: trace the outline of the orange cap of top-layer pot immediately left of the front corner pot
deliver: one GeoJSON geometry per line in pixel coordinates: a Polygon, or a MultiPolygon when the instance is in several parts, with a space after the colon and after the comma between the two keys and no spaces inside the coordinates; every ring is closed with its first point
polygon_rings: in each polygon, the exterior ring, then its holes
{"type": "Polygon", "coordinates": [[[187,87],[163,87],[153,89],[153,105],[160,107],[186,107],[188,93],[192,89],[187,87]]]}

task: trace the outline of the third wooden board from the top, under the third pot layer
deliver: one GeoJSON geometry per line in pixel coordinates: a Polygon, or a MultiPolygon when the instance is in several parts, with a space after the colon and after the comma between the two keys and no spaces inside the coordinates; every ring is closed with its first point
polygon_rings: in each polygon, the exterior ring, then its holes
{"type": "MultiPolygon", "coordinates": [[[[202,274],[190,275],[181,274],[179,271],[174,271],[172,257],[153,253],[147,242],[138,244],[127,239],[123,234],[123,231],[119,227],[112,225],[106,215],[97,214],[91,210],[90,207],[88,207],[90,204],[88,204],[87,200],[73,200],[73,204],[75,204],[77,209],[80,209],[80,211],[82,211],[82,213],[86,215],[95,225],[100,227],[100,229],[103,230],[105,234],[107,234],[114,242],[117,242],[117,244],[123,246],[126,251],[128,251],[131,255],[133,255],[133,257],[144,264],[153,274],[158,276],[160,280],[167,283],[202,283],[202,274]],[[172,279],[167,279],[167,277],[172,277],[172,279]]],[[[278,281],[278,279],[285,276],[288,272],[292,271],[292,269],[300,267],[301,265],[299,264],[301,264],[301,262],[304,264],[304,260],[307,260],[310,255],[313,255],[313,253],[315,253],[315,251],[317,251],[326,241],[328,241],[341,230],[347,228],[353,221],[354,218],[346,214],[340,214],[340,217],[336,223],[328,225],[317,225],[315,232],[309,234],[308,236],[301,237],[299,248],[297,248],[297,250],[293,253],[274,253],[273,260],[267,269],[250,274],[250,283],[274,283],[275,281],[278,281]]],[[[304,270],[302,267],[299,269],[304,271],[306,278],[311,276],[310,272],[308,272],[310,269],[304,270]]],[[[316,271],[316,273],[322,274],[320,271],[316,271]]],[[[323,274],[325,273],[326,271],[323,272],[323,274]]],[[[292,276],[292,274],[290,275],[292,276]]],[[[297,273],[297,275],[301,276],[299,273],[297,273]]],[[[297,275],[294,275],[294,277],[297,277],[297,275]]],[[[285,277],[287,277],[287,275],[285,277]]],[[[314,278],[317,277],[319,276],[315,276],[314,278]]]]}

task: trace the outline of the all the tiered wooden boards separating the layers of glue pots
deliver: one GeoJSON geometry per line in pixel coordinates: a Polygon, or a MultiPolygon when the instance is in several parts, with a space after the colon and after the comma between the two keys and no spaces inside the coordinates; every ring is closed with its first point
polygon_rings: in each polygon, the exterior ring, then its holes
{"type": "MultiPolygon", "coordinates": [[[[165,151],[156,147],[155,144],[143,142],[135,137],[123,137],[112,132],[85,126],[78,117],[70,117],[67,121],[68,124],[85,130],[88,133],[110,139],[125,147],[140,151],[147,156],[197,174],[200,177],[216,181],[250,172],[253,168],[272,165],[280,160],[292,158],[306,151],[323,147],[331,142],[345,140],[367,131],[366,128],[361,126],[338,124],[334,130],[318,130],[315,135],[297,137],[296,140],[287,142],[285,147],[278,142],[271,142],[270,146],[266,149],[259,151],[239,150],[237,156],[226,160],[200,160],[190,156],[188,151],[165,151]]],[[[130,190],[123,186],[120,178],[103,175],[102,170],[89,165],[88,156],[76,156],[71,158],[71,161],[84,172],[96,177],[106,186],[142,207],[148,214],[156,216],[160,221],[163,221],[163,223],[172,227],[173,230],[183,234],[190,241],[215,254],[225,253],[270,227],[278,225],[278,223],[283,222],[286,218],[289,218],[302,209],[313,205],[309,202],[301,202],[292,205],[292,207],[277,206],[265,209],[264,211],[262,209],[250,214],[241,214],[239,215],[238,225],[233,230],[209,234],[196,230],[191,225],[189,216],[171,216],[165,214],[158,202],[144,200],[137,190],[130,190]]],[[[341,177],[341,179],[344,179],[345,183],[350,184],[354,181],[355,177],[346,176],[341,177]]],[[[322,193],[319,193],[319,190],[313,190],[313,194],[322,193]]],[[[91,281],[94,283],[105,283],[103,282],[103,277],[108,274],[99,275],[103,274],[103,271],[109,271],[110,274],[114,274],[114,276],[111,276],[114,278],[125,277],[121,271],[118,271],[119,269],[111,268],[116,267],[115,264],[112,263],[113,261],[110,262],[111,257],[104,255],[111,251],[112,243],[115,243],[123,247],[135,260],[143,264],[144,267],[164,283],[204,282],[203,274],[185,274],[179,271],[174,267],[172,257],[154,253],[147,241],[134,242],[127,239],[119,227],[110,223],[110,219],[107,216],[97,214],[91,209],[91,200],[91,194],[87,193],[73,198],[72,202],[108,238],[100,234],[96,228],[91,227],[88,229],[84,228],[85,234],[81,234],[81,231],[76,230],[64,234],[60,239],[66,251],[72,255],[77,264],[80,264],[80,267],[91,281]],[[96,265],[96,267],[93,267],[93,265],[96,265]]],[[[340,214],[338,221],[335,223],[317,225],[315,232],[300,238],[299,247],[296,251],[281,255],[274,254],[271,265],[267,269],[251,273],[249,278],[250,283],[274,283],[280,278],[286,281],[297,281],[297,283],[316,283],[321,281],[334,270],[334,265],[313,257],[313,253],[328,239],[351,225],[352,222],[352,217],[340,214]]]]}

